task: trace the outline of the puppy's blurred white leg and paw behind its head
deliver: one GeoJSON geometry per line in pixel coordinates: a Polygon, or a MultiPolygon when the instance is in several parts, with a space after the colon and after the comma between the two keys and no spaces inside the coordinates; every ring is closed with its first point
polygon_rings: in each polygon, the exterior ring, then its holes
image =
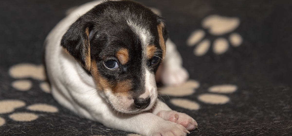
{"type": "Polygon", "coordinates": [[[165,85],[178,85],[189,78],[187,70],[182,66],[182,58],[170,39],[166,41],[166,56],[157,71],[157,76],[165,85]]]}

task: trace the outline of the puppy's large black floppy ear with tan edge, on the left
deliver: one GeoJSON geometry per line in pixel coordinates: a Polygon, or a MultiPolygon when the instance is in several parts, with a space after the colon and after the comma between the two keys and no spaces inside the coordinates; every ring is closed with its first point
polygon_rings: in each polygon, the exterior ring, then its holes
{"type": "Polygon", "coordinates": [[[79,18],[74,22],[61,40],[61,46],[79,61],[86,70],[90,70],[90,43],[89,33],[90,24],[79,18]]]}

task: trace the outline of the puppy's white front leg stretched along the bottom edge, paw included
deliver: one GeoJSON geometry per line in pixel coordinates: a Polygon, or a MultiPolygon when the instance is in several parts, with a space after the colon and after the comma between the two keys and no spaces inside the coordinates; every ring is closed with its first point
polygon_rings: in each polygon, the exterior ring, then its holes
{"type": "Polygon", "coordinates": [[[159,116],[145,112],[136,115],[112,115],[103,117],[102,123],[109,128],[116,128],[144,136],[185,136],[187,131],[180,124],[166,121],[159,116]]]}

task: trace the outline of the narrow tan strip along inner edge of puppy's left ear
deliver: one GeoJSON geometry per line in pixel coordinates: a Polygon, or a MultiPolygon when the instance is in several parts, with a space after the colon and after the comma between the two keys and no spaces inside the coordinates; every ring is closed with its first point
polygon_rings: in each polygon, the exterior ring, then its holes
{"type": "Polygon", "coordinates": [[[87,39],[84,40],[84,46],[85,46],[85,69],[90,70],[91,65],[91,57],[90,57],[90,42],[89,42],[89,28],[87,27],[85,29],[85,33],[87,35],[87,39]]]}

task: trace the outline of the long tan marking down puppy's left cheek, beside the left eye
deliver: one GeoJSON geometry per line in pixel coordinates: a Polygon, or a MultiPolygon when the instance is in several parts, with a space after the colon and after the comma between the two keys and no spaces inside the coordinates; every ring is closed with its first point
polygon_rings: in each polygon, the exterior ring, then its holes
{"type": "Polygon", "coordinates": [[[107,79],[100,75],[95,60],[91,61],[90,73],[93,76],[99,90],[104,91],[112,88],[107,79]]]}

